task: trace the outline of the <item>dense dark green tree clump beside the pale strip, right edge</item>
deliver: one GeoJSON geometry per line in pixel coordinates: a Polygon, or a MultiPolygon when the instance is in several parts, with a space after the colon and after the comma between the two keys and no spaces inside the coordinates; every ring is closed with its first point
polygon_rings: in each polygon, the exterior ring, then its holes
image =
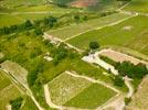
{"type": "Polygon", "coordinates": [[[117,63],[115,68],[121,76],[128,76],[129,78],[142,78],[148,74],[148,68],[144,64],[134,65],[130,62],[117,63]]]}

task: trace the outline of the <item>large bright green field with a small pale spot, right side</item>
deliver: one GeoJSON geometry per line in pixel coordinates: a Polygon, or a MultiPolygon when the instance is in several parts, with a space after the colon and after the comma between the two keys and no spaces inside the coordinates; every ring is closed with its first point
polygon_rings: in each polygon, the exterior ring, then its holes
{"type": "Polygon", "coordinates": [[[81,34],[67,41],[67,43],[78,48],[86,50],[91,41],[97,41],[101,46],[124,46],[147,55],[147,16],[135,16],[114,26],[81,34]]]}

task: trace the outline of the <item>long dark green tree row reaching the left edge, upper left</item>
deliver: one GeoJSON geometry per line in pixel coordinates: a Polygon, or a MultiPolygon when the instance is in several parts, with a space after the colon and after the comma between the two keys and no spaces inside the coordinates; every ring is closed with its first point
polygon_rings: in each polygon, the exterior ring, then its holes
{"type": "Polygon", "coordinates": [[[31,29],[34,29],[34,33],[36,35],[42,35],[43,34],[43,28],[53,28],[54,24],[57,22],[57,19],[54,16],[47,16],[44,18],[43,20],[35,20],[35,21],[30,21],[27,20],[24,23],[22,24],[15,24],[15,25],[11,25],[11,26],[3,26],[2,29],[0,29],[0,35],[3,34],[11,34],[11,33],[19,33],[19,32],[23,32],[23,31],[28,31],[31,29]]]}

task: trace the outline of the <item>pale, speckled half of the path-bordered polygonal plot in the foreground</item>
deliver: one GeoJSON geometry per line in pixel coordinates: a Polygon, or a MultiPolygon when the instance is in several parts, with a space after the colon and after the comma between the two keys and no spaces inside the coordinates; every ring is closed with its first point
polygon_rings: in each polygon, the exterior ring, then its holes
{"type": "Polygon", "coordinates": [[[51,99],[56,105],[64,105],[89,85],[92,82],[86,79],[75,78],[63,73],[49,82],[51,99]]]}

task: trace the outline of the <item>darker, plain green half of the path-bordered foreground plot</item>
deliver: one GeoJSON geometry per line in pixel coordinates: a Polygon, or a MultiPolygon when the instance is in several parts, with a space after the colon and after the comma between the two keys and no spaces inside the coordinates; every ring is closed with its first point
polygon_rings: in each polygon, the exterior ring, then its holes
{"type": "Polygon", "coordinates": [[[84,89],[80,95],[66,102],[65,106],[81,109],[96,109],[115,95],[115,91],[102,85],[93,84],[88,88],[84,89]]]}

